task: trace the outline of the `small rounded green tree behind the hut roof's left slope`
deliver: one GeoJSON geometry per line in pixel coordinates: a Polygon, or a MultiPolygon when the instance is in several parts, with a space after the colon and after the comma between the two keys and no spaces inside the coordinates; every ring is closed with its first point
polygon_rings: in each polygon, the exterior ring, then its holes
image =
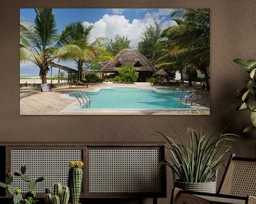
{"type": "Polygon", "coordinates": [[[107,45],[107,50],[113,53],[113,55],[117,55],[123,49],[128,49],[130,40],[127,37],[116,35],[114,40],[110,40],[107,45]]]}

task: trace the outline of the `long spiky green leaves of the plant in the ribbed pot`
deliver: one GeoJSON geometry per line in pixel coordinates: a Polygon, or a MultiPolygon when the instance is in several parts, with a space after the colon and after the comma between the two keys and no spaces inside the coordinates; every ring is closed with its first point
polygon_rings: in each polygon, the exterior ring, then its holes
{"type": "Polygon", "coordinates": [[[174,136],[178,142],[174,142],[171,137],[161,132],[157,133],[166,139],[168,142],[166,149],[171,153],[171,161],[163,161],[161,165],[166,164],[180,181],[189,183],[214,181],[216,171],[225,161],[223,158],[232,148],[226,145],[226,142],[235,141],[237,137],[237,135],[222,132],[206,137],[202,131],[198,134],[192,128],[188,128],[190,144],[187,146],[175,130],[174,136]]]}

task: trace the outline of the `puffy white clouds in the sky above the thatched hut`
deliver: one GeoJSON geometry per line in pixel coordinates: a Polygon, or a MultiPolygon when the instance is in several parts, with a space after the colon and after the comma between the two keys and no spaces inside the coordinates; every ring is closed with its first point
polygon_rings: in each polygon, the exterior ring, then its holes
{"type": "MultiPolygon", "coordinates": [[[[115,8],[119,9],[119,8],[115,8]]],[[[96,38],[107,37],[113,39],[115,35],[123,35],[131,42],[131,47],[137,47],[137,43],[141,40],[142,33],[146,26],[153,24],[154,21],[159,21],[162,29],[175,25],[174,21],[166,20],[166,16],[174,11],[174,9],[158,9],[154,12],[146,12],[143,19],[134,19],[132,22],[122,15],[102,16],[95,23],[84,22],[85,26],[93,25],[94,28],[90,32],[90,41],[93,42],[96,38]]]]}

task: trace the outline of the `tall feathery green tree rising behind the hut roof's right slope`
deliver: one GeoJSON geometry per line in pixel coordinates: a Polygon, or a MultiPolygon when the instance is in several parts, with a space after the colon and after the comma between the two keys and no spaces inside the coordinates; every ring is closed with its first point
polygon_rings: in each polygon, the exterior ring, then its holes
{"type": "Polygon", "coordinates": [[[155,62],[158,55],[158,46],[157,43],[161,38],[161,25],[158,22],[155,22],[154,25],[151,24],[144,28],[142,33],[142,40],[138,42],[138,50],[151,62],[155,62]]]}

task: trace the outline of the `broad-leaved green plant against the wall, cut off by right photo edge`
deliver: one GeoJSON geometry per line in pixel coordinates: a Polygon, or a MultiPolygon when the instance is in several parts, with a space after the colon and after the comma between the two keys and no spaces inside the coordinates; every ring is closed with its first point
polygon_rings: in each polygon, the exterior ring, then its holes
{"type": "Polygon", "coordinates": [[[245,128],[243,132],[250,132],[256,130],[256,60],[235,59],[234,62],[247,69],[247,73],[250,75],[247,79],[247,86],[238,90],[242,99],[238,110],[249,110],[252,121],[252,125],[245,128]]]}

